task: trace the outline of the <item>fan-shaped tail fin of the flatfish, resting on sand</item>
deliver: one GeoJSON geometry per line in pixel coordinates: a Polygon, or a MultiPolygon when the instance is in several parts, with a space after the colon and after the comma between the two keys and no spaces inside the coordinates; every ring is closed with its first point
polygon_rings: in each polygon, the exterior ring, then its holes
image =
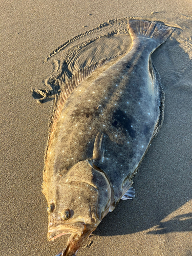
{"type": "Polygon", "coordinates": [[[135,19],[129,19],[128,28],[133,40],[141,37],[152,38],[157,41],[158,46],[166,41],[169,35],[174,31],[174,28],[157,22],[135,19]]]}

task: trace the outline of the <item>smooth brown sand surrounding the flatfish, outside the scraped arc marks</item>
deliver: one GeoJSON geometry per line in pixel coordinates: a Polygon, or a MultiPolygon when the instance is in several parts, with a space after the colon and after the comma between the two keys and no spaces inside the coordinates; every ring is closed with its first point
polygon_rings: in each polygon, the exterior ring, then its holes
{"type": "Polygon", "coordinates": [[[51,51],[123,16],[182,30],[165,45],[171,54],[166,47],[153,54],[166,94],[165,120],[134,179],[136,198],[121,201],[78,255],[192,255],[191,6],[189,0],[1,1],[1,256],[54,256],[65,247],[67,238],[48,243],[46,237],[41,181],[51,103],[37,104],[31,88],[42,88],[51,74],[52,62],[43,63],[51,51]]]}

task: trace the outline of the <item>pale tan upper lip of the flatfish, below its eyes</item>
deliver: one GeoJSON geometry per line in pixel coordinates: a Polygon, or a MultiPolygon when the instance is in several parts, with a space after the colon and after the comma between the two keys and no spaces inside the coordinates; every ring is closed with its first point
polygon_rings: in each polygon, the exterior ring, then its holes
{"type": "Polygon", "coordinates": [[[64,234],[78,234],[81,236],[84,229],[86,229],[86,224],[82,222],[76,222],[72,224],[58,224],[49,227],[47,238],[49,241],[53,241],[64,234]]]}

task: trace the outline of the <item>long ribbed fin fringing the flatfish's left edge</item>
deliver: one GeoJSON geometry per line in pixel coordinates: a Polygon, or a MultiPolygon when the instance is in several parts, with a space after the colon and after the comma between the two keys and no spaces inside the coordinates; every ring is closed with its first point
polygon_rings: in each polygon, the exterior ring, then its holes
{"type": "Polygon", "coordinates": [[[75,90],[75,88],[79,85],[81,81],[86,79],[89,75],[91,75],[96,69],[108,63],[112,58],[101,59],[98,62],[93,63],[89,67],[84,67],[78,70],[69,80],[66,82],[65,86],[63,86],[60,90],[59,96],[56,98],[54,112],[52,114],[50,120],[50,131],[49,131],[49,138],[46,147],[46,155],[45,155],[45,168],[44,168],[44,182],[42,183],[42,193],[47,196],[47,169],[48,169],[48,159],[47,153],[49,149],[49,145],[51,144],[53,134],[56,128],[57,121],[59,119],[60,113],[62,108],[66,102],[66,99],[69,95],[75,90]]]}

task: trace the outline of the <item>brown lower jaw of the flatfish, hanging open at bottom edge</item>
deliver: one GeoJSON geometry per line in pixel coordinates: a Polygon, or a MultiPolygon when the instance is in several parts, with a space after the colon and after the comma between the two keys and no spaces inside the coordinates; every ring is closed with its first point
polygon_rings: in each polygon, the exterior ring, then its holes
{"type": "Polygon", "coordinates": [[[87,225],[83,233],[79,236],[77,233],[72,233],[68,239],[67,246],[62,250],[60,256],[75,256],[78,249],[89,238],[90,234],[96,229],[98,224],[87,225]]]}

